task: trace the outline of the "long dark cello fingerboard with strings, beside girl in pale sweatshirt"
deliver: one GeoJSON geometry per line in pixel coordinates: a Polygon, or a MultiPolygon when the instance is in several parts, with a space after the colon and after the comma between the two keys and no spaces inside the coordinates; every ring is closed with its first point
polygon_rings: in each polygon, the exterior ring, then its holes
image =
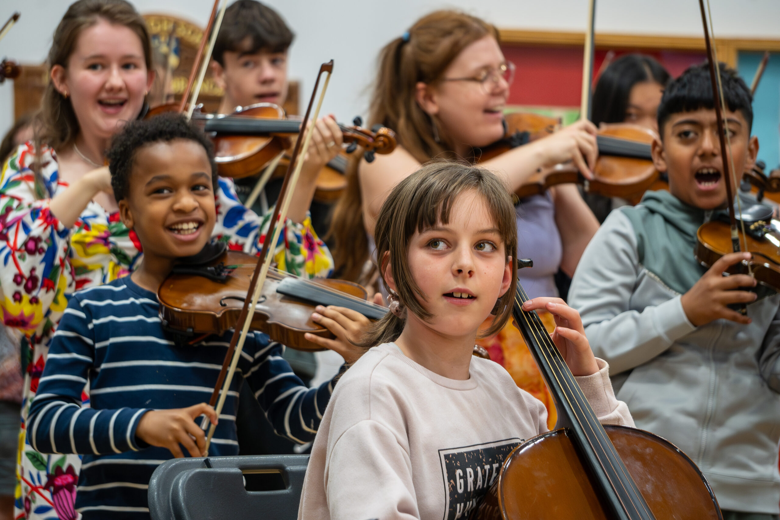
{"type": "MultiPolygon", "coordinates": [[[[522,286],[518,285],[518,288],[519,288],[519,293],[521,293],[521,300],[522,299],[528,299],[527,295],[523,291],[522,286]]],[[[516,298],[516,303],[519,304],[519,302],[517,301],[517,298],[516,298]]],[[[537,317],[536,320],[529,320],[528,315],[530,313],[526,313],[525,311],[522,311],[522,312],[523,312],[523,320],[527,324],[527,326],[529,327],[530,333],[534,334],[534,338],[537,340],[537,342],[538,342],[538,344],[540,346],[546,347],[547,350],[548,350],[548,352],[544,352],[544,350],[541,349],[541,352],[540,352],[541,355],[544,356],[545,361],[550,366],[552,366],[554,364],[556,366],[556,368],[558,369],[559,373],[561,373],[562,377],[564,377],[564,380],[566,381],[566,387],[569,387],[569,391],[573,394],[573,397],[575,398],[575,400],[578,401],[576,404],[577,404],[577,408],[580,409],[580,414],[585,419],[585,423],[587,423],[587,426],[590,428],[591,432],[594,433],[595,437],[597,437],[595,439],[595,442],[598,444],[598,447],[601,448],[601,450],[604,452],[605,457],[608,459],[608,463],[612,467],[612,471],[615,472],[615,477],[617,477],[617,479],[619,480],[619,482],[620,482],[624,492],[626,493],[626,497],[631,502],[633,507],[636,509],[636,512],[641,515],[641,511],[639,511],[639,508],[637,508],[637,506],[636,506],[635,497],[633,497],[634,493],[638,494],[639,491],[636,489],[636,486],[633,486],[633,485],[630,486],[632,488],[631,490],[626,490],[626,487],[624,485],[624,480],[620,479],[619,475],[618,475],[618,472],[615,471],[615,465],[617,465],[618,469],[620,470],[620,472],[622,472],[624,474],[624,476],[627,476],[626,475],[625,465],[619,464],[616,460],[614,460],[614,458],[617,457],[617,455],[614,452],[614,446],[612,446],[611,441],[609,441],[608,439],[599,438],[599,437],[603,437],[605,435],[605,432],[604,432],[603,428],[594,427],[594,424],[591,423],[591,421],[595,419],[594,414],[592,412],[592,409],[590,409],[590,406],[584,406],[583,407],[582,402],[579,402],[579,399],[585,399],[585,397],[582,394],[579,385],[576,384],[576,381],[569,380],[570,377],[573,377],[573,376],[570,376],[569,370],[568,369],[567,370],[563,370],[562,367],[560,366],[560,364],[562,363],[562,356],[560,355],[560,352],[558,352],[558,348],[555,347],[554,344],[553,345],[548,345],[546,343],[546,342],[552,343],[552,341],[551,341],[551,338],[550,338],[548,332],[546,331],[546,329],[544,329],[544,327],[541,325],[541,321],[538,320],[538,317],[537,317]],[[542,338],[544,338],[544,339],[542,339],[542,338]],[[551,363],[551,360],[549,358],[551,358],[553,360],[552,363],[551,363]],[[590,411],[588,412],[589,409],[590,409],[590,411]],[[612,447],[612,449],[608,449],[608,447],[612,447]]],[[[553,376],[555,377],[555,380],[558,383],[558,385],[561,388],[563,388],[563,385],[561,384],[561,381],[558,380],[558,374],[557,373],[553,373],[553,376]]],[[[566,399],[566,401],[568,402],[569,406],[572,408],[572,411],[576,412],[576,409],[573,407],[572,402],[569,400],[569,397],[566,394],[562,394],[562,397],[566,399]]],[[[587,400],[586,400],[586,402],[587,402],[587,400]]],[[[580,427],[583,427],[582,419],[578,419],[577,417],[573,417],[572,419],[577,419],[578,422],[580,423],[580,427]]],[[[595,419],[595,420],[597,422],[597,419],[595,419]]],[[[588,442],[589,442],[589,444],[591,444],[592,448],[595,448],[595,446],[593,445],[594,440],[591,440],[589,438],[588,442]]],[[[598,457],[598,455],[597,455],[597,457],[598,457]]],[[[605,462],[603,462],[601,460],[601,458],[599,458],[599,459],[600,459],[599,462],[602,465],[602,467],[604,469],[607,469],[605,467],[605,465],[604,465],[605,462]]],[[[617,490],[618,488],[615,486],[615,483],[613,482],[613,479],[609,476],[608,472],[605,473],[605,476],[607,476],[607,478],[612,483],[612,486],[615,487],[615,490],[617,490]]],[[[633,484],[633,479],[629,480],[628,482],[633,484]]],[[[618,499],[622,502],[622,498],[621,497],[618,496],[618,499]]],[[[647,512],[647,507],[646,507],[647,504],[644,502],[644,500],[640,501],[640,505],[642,506],[642,509],[644,509],[647,512]]],[[[625,510],[625,506],[624,506],[624,510],[625,510]]],[[[628,511],[626,511],[626,513],[627,512],[628,511]]],[[[652,518],[652,517],[650,517],[650,518],[652,518]]]]}

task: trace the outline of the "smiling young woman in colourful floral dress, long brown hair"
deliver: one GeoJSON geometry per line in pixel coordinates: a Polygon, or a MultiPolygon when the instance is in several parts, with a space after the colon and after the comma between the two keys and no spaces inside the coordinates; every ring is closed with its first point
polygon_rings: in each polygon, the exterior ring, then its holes
{"type": "MultiPolygon", "coordinates": [[[[23,436],[69,295],[128,274],[143,257],[119,220],[104,157],[123,123],[142,115],[154,80],[144,19],[125,0],[78,0],[55,30],[48,65],[35,139],[5,161],[0,179],[0,306],[5,326],[24,334],[29,347],[23,436]]],[[[213,236],[231,249],[257,252],[270,215],[243,207],[229,179],[218,185],[213,236]]],[[[324,275],[332,259],[311,227],[309,203],[310,196],[291,213],[299,221],[285,223],[275,258],[285,271],[324,275]]],[[[27,443],[22,451],[16,518],[76,518],[79,458],[41,455],[27,443]]]]}

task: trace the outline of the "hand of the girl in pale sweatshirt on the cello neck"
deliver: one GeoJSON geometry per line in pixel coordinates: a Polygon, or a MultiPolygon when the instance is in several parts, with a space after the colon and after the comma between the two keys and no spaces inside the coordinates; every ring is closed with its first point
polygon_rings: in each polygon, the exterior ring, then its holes
{"type": "Polygon", "coordinates": [[[598,365],[590,343],[585,337],[580,313],[560,298],[534,298],[523,303],[523,310],[544,309],[555,318],[555,331],[550,337],[575,376],[590,376],[598,372],[598,365]]]}

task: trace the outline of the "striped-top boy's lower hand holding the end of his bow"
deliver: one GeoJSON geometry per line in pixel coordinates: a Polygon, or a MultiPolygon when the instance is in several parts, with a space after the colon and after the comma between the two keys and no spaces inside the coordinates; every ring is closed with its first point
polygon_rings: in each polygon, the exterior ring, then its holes
{"type": "Polygon", "coordinates": [[[211,424],[217,424],[217,412],[204,402],[189,408],[152,410],[138,422],[136,437],[152,446],[167,447],[176,458],[184,456],[179,444],[186,447],[190,456],[205,457],[206,434],[195,423],[195,418],[203,415],[211,424]]]}

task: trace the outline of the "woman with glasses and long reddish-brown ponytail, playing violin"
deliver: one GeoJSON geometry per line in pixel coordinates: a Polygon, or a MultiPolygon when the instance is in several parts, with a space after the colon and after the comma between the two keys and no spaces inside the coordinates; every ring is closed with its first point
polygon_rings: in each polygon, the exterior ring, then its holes
{"type": "MultiPolygon", "coordinates": [[[[455,11],[424,16],[381,51],[371,99],[370,125],[395,130],[399,147],[360,161],[349,173],[346,196],[335,210],[336,272],[367,281],[369,236],[393,186],[431,158],[474,161],[473,150],[505,133],[503,109],[513,65],[498,46],[498,31],[484,20],[455,11]]],[[[584,175],[597,157],[596,128],[578,122],[558,133],[481,163],[514,191],[537,168],[571,160],[584,175]]],[[[516,205],[519,255],[534,256],[521,274],[530,295],[557,295],[553,275],[571,275],[598,222],[576,186],[556,186],[516,205]]],[[[371,270],[369,270],[371,271],[371,270]]]]}

